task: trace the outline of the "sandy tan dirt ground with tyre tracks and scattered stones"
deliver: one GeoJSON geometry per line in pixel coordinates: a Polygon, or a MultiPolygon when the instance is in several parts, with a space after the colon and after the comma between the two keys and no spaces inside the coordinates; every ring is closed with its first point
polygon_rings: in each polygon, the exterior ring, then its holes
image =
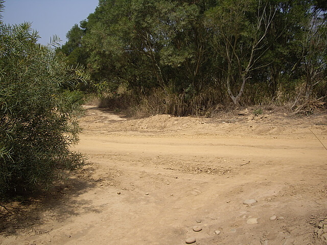
{"type": "Polygon", "coordinates": [[[0,244],[327,244],[327,115],[265,112],[87,106],[75,150],[89,165],[2,208],[0,244]]]}

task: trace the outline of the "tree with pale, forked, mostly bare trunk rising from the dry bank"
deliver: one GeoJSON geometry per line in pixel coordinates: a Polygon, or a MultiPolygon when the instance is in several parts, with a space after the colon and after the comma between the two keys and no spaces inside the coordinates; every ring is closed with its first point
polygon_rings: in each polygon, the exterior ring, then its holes
{"type": "Polygon", "coordinates": [[[259,61],[269,48],[267,34],[274,15],[273,6],[249,0],[220,1],[206,13],[219,61],[216,67],[222,70],[228,95],[237,106],[251,72],[268,65],[259,61]]]}

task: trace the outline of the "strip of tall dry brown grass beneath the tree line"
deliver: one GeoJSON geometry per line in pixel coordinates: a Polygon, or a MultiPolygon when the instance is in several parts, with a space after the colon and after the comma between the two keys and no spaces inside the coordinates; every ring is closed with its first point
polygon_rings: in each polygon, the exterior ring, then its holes
{"type": "MultiPolygon", "coordinates": [[[[303,83],[292,89],[279,86],[275,96],[272,96],[271,90],[266,84],[248,84],[241,97],[240,105],[283,107],[286,111],[291,112],[304,103],[304,89],[303,83]]],[[[203,88],[200,93],[190,96],[186,92],[176,93],[174,89],[166,87],[165,89],[153,89],[146,95],[136,95],[135,92],[124,87],[115,93],[103,94],[100,98],[90,97],[88,103],[98,103],[101,108],[124,111],[125,114],[134,118],[157,114],[212,117],[218,112],[235,109],[230,97],[223,91],[225,89],[221,85],[217,85],[203,88]]],[[[315,94],[317,94],[316,91],[315,94]]]]}

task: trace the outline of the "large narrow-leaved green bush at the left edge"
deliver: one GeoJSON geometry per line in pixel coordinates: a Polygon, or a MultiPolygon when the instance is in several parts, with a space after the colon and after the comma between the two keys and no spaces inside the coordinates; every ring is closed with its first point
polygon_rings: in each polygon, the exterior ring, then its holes
{"type": "Polygon", "coordinates": [[[0,19],[0,195],[47,187],[60,169],[84,163],[69,151],[78,142],[80,95],[63,88],[87,76],[37,39],[30,24],[0,19]]]}

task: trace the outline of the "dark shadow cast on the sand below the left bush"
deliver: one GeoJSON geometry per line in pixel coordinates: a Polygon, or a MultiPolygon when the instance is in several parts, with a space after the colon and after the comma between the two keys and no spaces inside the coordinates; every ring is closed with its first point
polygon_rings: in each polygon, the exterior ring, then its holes
{"type": "MultiPolygon", "coordinates": [[[[91,170],[88,167],[87,170],[91,170]]],[[[97,182],[74,170],[65,181],[57,181],[47,192],[34,192],[30,197],[0,206],[0,236],[36,235],[52,230],[51,224],[85,212],[99,213],[91,200],[79,196],[95,188],[97,182]],[[49,226],[46,226],[46,225],[49,226]]]]}

